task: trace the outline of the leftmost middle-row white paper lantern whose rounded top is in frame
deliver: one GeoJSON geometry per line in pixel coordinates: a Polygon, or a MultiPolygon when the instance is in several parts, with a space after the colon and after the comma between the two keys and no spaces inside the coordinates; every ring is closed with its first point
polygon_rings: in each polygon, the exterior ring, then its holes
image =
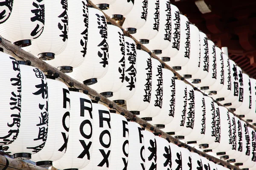
{"type": "Polygon", "coordinates": [[[108,31],[105,15],[98,9],[88,8],[89,27],[87,53],[84,62],[72,75],[85,85],[92,85],[108,71],[108,31]]]}

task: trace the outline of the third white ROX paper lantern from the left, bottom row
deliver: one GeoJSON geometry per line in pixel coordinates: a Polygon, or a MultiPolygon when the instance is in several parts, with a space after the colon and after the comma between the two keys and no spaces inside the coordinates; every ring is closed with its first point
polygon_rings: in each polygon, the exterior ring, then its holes
{"type": "MultiPolygon", "coordinates": [[[[111,116],[104,105],[93,103],[93,143],[89,164],[83,170],[108,170],[111,160],[111,116]]],[[[113,139],[116,140],[116,139],[113,139]]]]}

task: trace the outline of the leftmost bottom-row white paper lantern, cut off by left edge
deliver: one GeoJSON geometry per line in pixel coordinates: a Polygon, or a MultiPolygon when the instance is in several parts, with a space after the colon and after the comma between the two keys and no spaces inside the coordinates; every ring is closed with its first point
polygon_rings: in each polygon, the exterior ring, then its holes
{"type": "Polygon", "coordinates": [[[0,63],[3,68],[3,71],[0,72],[1,85],[3,86],[0,89],[0,146],[2,146],[14,142],[19,134],[21,77],[20,66],[16,59],[3,53],[3,48],[0,50],[0,63]]]}

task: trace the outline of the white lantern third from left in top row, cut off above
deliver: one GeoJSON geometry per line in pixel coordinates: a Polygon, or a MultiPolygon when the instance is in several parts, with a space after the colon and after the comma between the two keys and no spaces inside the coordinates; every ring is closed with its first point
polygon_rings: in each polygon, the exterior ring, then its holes
{"type": "Polygon", "coordinates": [[[148,16],[148,0],[135,0],[134,7],[125,16],[122,28],[130,34],[135,34],[146,23],[148,16]]]}

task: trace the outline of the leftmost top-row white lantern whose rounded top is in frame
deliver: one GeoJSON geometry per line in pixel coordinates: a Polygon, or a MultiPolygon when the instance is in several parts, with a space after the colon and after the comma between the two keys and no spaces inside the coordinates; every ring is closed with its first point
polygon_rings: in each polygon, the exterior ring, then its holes
{"type": "Polygon", "coordinates": [[[171,4],[171,18],[172,18],[172,36],[171,43],[168,48],[162,50],[162,54],[158,54],[157,57],[162,59],[164,62],[170,61],[170,58],[175,57],[180,49],[180,11],[179,9],[171,4]]]}

